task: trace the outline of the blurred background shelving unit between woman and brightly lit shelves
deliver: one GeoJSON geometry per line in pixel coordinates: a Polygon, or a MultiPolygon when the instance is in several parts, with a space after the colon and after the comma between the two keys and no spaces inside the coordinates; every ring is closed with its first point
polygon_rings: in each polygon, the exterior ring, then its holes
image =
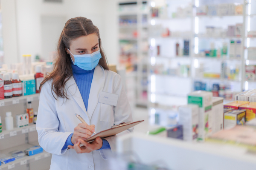
{"type": "Polygon", "coordinates": [[[120,65],[127,71],[126,92],[132,108],[147,106],[147,1],[119,1],[120,65]]]}

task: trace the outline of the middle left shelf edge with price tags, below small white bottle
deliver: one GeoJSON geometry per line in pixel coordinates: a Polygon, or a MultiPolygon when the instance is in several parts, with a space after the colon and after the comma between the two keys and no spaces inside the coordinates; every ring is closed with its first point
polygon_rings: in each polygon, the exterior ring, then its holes
{"type": "Polygon", "coordinates": [[[6,139],[12,136],[22,135],[24,133],[29,133],[33,131],[36,131],[35,124],[30,124],[28,126],[20,127],[20,128],[14,128],[12,130],[3,130],[3,132],[0,133],[0,140],[6,139]]]}

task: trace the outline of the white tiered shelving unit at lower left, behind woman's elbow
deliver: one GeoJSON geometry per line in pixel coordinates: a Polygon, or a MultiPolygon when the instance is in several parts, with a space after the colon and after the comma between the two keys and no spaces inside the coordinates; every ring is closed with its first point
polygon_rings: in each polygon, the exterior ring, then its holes
{"type": "MultiPolygon", "coordinates": [[[[3,123],[3,131],[0,133],[0,154],[11,156],[9,153],[13,150],[25,150],[29,147],[39,145],[35,124],[29,124],[28,126],[20,128],[17,128],[15,124],[15,115],[23,113],[23,110],[26,110],[26,103],[29,101],[38,102],[39,99],[40,94],[32,94],[0,100],[0,116],[2,118],[2,123],[4,121],[5,111],[9,111],[12,108],[15,127],[12,130],[4,130],[5,125],[3,123]],[[17,111],[17,113],[13,111],[17,111]]],[[[34,108],[35,111],[37,111],[36,109],[37,108],[34,108]]],[[[30,164],[38,160],[44,161],[45,167],[48,168],[50,160],[46,158],[51,157],[51,155],[52,154],[44,151],[43,153],[39,153],[34,156],[24,156],[21,159],[16,159],[15,161],[7,164],[2,164],[0,166],[0,170],[10,170],[12,168],[32,170],[34,168],[30,167],[30,164]]]]}

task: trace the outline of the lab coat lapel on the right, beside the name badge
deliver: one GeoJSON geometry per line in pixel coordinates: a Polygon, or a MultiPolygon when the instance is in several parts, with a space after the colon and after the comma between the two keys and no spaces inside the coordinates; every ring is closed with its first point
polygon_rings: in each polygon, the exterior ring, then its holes
{"type": "Polygon", "coordinates": [[[105,82],[105,71],[102,66],[97,65],[93,73],[93,81],[90,88],[90,94],[88,99],[87,112],[89,119],[91,119],[96,105],[99,102],[99,92],[103,90],[105,82]]]}

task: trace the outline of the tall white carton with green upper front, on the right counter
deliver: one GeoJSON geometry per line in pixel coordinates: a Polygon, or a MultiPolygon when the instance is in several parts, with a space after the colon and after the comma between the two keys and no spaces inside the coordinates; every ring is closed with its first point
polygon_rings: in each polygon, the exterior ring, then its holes
{"type": "Polygon", "coordinates": [[[212,93],[207,91],[194,91],[188,94],[188,104],[198,105],[199,123],[198,123],[198,141],[203,141],[208,135],[209,115],[212,111],[212,93]]]}

